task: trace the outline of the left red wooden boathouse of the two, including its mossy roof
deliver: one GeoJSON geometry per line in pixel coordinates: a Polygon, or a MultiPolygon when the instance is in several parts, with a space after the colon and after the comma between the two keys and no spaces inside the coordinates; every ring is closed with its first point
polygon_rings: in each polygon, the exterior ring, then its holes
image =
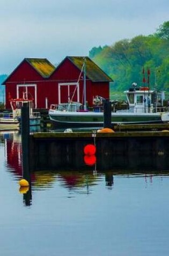
{"type": "Polygon", "coordinates": [[[49,75],[55,67],[47,59],[25,58],[3,82],[6,108],[11,108],[10,99],[23,98],[23,92],[34,99],[35,108],[45,108],[48,95],[49,75]]]}

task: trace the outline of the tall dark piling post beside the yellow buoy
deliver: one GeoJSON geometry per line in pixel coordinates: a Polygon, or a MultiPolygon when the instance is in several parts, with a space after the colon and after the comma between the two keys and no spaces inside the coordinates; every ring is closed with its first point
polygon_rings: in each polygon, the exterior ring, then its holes
{"type": "Polygon", "coordinates": [[[23,178],[30,183],[30,109],[26,102],[23,107],[21,107],[21,145],[23,156],[23,178]]]}

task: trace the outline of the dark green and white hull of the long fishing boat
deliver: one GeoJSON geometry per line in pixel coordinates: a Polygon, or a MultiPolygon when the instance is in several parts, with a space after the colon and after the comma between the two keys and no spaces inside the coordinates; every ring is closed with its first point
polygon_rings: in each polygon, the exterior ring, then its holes
{"type": "MultiPolygon", "coordinates": [[[[49,117],[56,127],[102,127],[104,125],[103,112],[63,112],[49,110],[49,117]]],[[[111,122],[112,125],[120,123],[169,122],[169,113],[112,113],[111,122]]]]}

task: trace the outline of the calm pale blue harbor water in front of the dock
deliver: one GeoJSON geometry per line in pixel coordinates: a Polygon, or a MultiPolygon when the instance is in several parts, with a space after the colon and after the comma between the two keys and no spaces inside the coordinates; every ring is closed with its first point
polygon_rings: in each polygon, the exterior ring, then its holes
{"type": "Polygon", "coordinates": [[[1,255],[169,255],[169,170],[36,171],[26,192],[20,134],[0,152],[1,255]]]}

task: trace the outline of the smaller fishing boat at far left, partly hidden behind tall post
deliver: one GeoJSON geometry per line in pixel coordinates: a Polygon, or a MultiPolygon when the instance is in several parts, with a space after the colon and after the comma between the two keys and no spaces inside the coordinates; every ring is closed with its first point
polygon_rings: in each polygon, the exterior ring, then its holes
{"type": "Polygon", "coordinates": [[[11,99],[12,112],[0,114],[1,129],[19,129],[21,125],[21,107],[24,103],[28,104],[30,113],[30,126],[40,126],[40,112],[33,112],[33,99],[28,99],[24,93],[23,99],[11,99]]]}

